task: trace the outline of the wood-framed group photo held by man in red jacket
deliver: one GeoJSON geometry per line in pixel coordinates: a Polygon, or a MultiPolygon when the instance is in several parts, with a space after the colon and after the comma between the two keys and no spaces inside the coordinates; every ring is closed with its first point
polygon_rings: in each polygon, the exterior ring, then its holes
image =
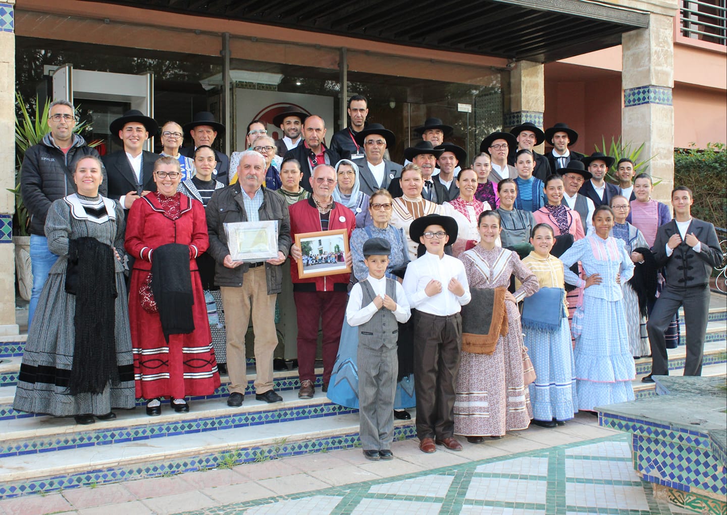
{"type": "Polygon", "coordinates": [[[296,234],[295,244],[302,254],[298,260],[301,279],[350,273],[350,266],[346,266],[346,256],[350,252],[348,229],[296,234]]]}

